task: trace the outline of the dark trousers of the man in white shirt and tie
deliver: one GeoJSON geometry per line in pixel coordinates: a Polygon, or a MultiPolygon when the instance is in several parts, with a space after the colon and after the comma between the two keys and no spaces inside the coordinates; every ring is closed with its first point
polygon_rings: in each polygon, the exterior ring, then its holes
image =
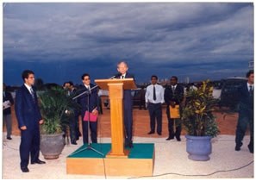
{"type": "Polygon", "coordinates": [[[157,133],[162,133],[162,105],[161,103],[148,103],[147,106],[150,116],[150,131],[155,131],[155,120],[157,120],[157,133]]]}

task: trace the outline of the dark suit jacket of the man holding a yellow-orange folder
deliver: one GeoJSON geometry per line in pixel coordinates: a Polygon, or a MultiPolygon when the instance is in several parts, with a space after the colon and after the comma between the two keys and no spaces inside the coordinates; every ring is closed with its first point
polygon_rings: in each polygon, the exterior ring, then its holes
{"type": "Polygon", "coordinates": [[[174,94],[172,92],[172,86],[167,86],[165,88],[165,103],[167,104],[166,107],[166,114],[170,118],[170,102],[175,102],[176,105],[180,105],[180,103],[184,99],[184,88],[182,85],[177,84],[176,89],[174,90],[174,94]]]}

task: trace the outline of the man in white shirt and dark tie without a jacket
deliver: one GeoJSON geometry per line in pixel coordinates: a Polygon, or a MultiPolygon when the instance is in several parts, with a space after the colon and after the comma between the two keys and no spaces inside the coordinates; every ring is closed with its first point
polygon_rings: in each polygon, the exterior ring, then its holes
{"type": "Polygon", "coordinates": [[[151,84],[147,86],[145,102],[150,115],[150,132],[154,134],[155,119],[157,120],[157,133],[162,134],[162,103],[165,103],[164,88],[157,84],[158,77],[151,76],[151,84]]]}

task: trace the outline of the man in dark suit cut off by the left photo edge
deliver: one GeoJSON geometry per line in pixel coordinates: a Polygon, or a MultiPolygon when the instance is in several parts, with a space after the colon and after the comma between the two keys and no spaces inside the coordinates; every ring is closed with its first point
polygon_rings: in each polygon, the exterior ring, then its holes
{"type": "Polygon", "coordinates": [[[11,109],[10,106],[14,104],[13,98],[9,91],[6,91],[6,84],[3,83],[3,122],[6,125],[7,135],[6,138],[11,140],[11,127],[12,127],[12,119],[11,119],[11,109]]]}

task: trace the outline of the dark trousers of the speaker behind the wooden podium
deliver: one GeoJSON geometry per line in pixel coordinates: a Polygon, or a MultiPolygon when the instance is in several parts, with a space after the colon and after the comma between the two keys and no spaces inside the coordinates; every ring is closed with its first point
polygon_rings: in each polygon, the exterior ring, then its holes
{"type": "Polygon", "coordinates": [[[133,140],[133,109],[124,107],[124,128],[125,128],[125,140],[126,143],[130,143],[133,140]]]}

